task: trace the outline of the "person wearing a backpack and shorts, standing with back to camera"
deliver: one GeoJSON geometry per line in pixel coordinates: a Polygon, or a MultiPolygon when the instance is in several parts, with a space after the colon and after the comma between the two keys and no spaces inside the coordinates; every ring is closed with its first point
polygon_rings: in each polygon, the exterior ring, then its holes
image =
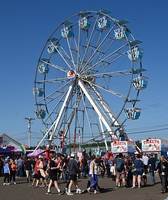
{"type": "Polygon", "coordinates": [[[126,177],[126,163],[124,161],[124,157],[122,153],[119,153],[117,158],[115,159],[115,169],[116,169],[116,188],[120,185],[120,178],[122,179],[122,186],[125,188],[125,177],[126,177]]]}

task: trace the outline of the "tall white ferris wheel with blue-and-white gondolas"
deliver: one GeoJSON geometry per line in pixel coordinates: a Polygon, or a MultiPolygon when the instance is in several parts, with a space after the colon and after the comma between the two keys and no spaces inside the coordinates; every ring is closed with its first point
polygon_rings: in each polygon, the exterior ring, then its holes
{"type": "MultiPolygon", "coordinates": [[[[53,141],[119,138],[127,119],[138,119],[138,96],[147,87],[143,49],[110,11],[83,11],[50,35],[36,67],[36,116],[53,141]]],[[[75,140],[75,141],[74,141],[75,140]]]]}

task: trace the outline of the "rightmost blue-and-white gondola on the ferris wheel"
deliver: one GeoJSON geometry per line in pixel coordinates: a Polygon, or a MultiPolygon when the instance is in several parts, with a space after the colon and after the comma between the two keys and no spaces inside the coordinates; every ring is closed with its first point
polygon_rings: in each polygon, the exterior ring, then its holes
{"type": "Polygon", "coordinates": [[[133,79],[132,84],[136,90],[143,90],[148,85],[148,78],[145,76],[139,76],[133,79]]]}

